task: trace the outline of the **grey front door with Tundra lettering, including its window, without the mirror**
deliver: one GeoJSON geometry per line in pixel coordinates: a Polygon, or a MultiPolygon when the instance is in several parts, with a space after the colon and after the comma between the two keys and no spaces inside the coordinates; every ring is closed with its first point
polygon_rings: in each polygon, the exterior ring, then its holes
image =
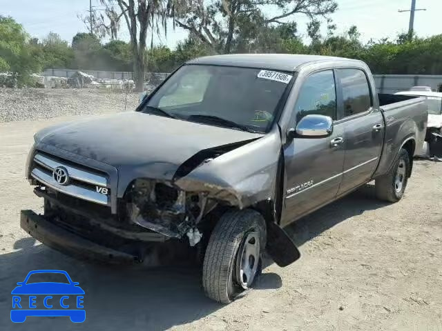
{"type": "MultiPolygon", "coordinates": [[[[314,72],[305,79],[294,109],[293,127],[307,114],[336,119],[336,84],[333,70],[314,72]]],[[[336,197],[342,178],[345,134],[334,126],[330,137],[296,137],[287,142],[285,203],[281,225],[298,219],[336,197]]]]}

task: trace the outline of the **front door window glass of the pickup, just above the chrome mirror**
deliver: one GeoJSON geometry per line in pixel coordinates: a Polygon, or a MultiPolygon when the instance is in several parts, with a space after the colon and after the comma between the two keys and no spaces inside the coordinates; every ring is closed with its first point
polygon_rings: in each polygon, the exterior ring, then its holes
{"type": "Polygon", "coordinates": [[[332,70],[316,72],[307,77],[299,91],[295,110],[298,121],[310,114],[336,119],[336,86],[332,70]]]}

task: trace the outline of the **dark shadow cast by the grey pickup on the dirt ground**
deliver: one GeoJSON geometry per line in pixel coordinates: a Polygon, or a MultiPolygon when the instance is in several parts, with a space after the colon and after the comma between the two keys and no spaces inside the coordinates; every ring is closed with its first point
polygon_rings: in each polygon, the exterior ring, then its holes
{"type": "MultiPolygon", "coordinates": [[[[371,199],[369,185],[349,197],[300,219],[287,231],[297,245],[302,245],[321,232],[361,214],[364,210],[381,208],[384,203],[371,199]]],[[[30,270],[66,270],[78,281],[85,294],[86,321],[74,324],[67,317],[28,317],[25,323],[0,321],[0,329],[8,330],[165,330],[174,325],[202,319],[222,305],[204,297],[198,268],[139,268],[93,265],[66,257],[44,245],[35,245],[32,238],[16,241],[17,251],[0,255],[0,309],[6,314],[12,307],[10,291],[23,281],[30,270]]],[[[269,265],[265,263],[265,265],[269,265]]],[[[256,290],[279,288],[278,274],[265,273],[256,290]]]]}

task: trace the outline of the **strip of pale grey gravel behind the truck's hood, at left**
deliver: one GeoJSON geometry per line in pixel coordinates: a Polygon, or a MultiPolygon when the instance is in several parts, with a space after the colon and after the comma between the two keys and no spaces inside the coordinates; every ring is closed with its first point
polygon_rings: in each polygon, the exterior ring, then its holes
{"type": "Polygon", "coordinates": [[[135,110],[139,93],[93,89],[0,89],[0,122],[135,110]],[[127,102],[126,102],[127,99],[127,102]],[[125,107],[126,103],[126,107],[125,107]]]}

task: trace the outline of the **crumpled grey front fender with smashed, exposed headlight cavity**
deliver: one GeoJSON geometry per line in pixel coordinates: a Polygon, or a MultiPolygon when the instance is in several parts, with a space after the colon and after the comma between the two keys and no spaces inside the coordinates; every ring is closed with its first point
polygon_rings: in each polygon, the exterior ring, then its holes
{"type": "MultiPolygon", "coordinates": [[[[172,179],[135,179],[126,192],[129,219],[169,238],[191,242],[216,205],[247,208],[274,199],[281,141],[278,129],[260,139],[202,150],[172,179]]],[[[199,240],[199,239],[198,239],[199,240]]]]}

